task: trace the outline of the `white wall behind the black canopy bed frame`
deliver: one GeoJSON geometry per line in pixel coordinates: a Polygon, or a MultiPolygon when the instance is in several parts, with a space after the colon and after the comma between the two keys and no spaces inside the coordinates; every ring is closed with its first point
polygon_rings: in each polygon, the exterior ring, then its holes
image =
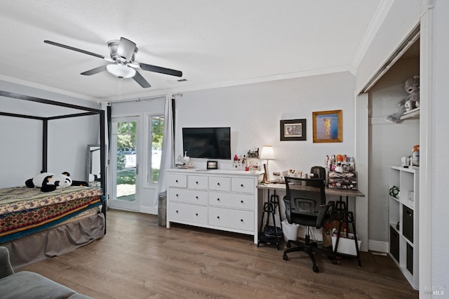
{"type": "MultiPolygon", "coordinates": [[[[95,102],[80,100],[67,95],[0,81],[0,90],[31,95],[37,98],[67,102],[99,109],[95,102]]],[[[13,98],[0,98],[2,112],[46,116],[61,108],[29,103],[13,98]],[[18,111],[20,109],[20,111],[18,111]]],[[[74,180],[85,180],[86,151],[88,144],[98,142],[98,116],[74,117],[48,123],[48,171],[68,171],[74,180]]],[[[0,187],[25,185],[25,180],[41,172],[42,168],[42,121],[0,116],[0,187]]]]}

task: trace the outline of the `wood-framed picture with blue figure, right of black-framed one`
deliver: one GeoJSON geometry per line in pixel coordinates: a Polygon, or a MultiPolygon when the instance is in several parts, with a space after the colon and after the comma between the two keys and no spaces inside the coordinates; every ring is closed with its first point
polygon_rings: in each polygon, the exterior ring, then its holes
{"type": "Polygon", "coordinates": [[[314,142],[343,142],[342,110],[312,112],[314,142]]]}

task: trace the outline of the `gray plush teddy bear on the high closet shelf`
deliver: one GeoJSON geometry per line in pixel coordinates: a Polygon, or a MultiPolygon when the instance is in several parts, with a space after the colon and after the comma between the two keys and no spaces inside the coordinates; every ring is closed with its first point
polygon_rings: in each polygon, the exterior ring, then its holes
{"type": "Polygon", "coordinates": [[[407,79],[404,83],[404,90],[408,93],[406,98],[403,98],[401,102],[396,105],[396,112],[385,117],[386,121],[397,124],[401,121],[401,117],[406,112],[420,107],[420,77],[413,76],[413,78],[407,79]]]}

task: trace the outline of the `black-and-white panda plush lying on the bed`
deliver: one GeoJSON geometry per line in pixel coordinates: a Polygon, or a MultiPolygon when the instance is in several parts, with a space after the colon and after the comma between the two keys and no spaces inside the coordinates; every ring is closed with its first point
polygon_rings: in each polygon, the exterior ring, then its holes
{"type": "Polygon", "coordinates": [[[81,180],[72,180],[72,178],[70,178],[70,173],[67,172],[54,174],[41,171],[39,175],[28,179],[25,182],[25,185],[29,188],[41,188],[42,192],[51,192],[56,189],[62,189],[70,186],[88,186],[88,183],[81,180]]]}

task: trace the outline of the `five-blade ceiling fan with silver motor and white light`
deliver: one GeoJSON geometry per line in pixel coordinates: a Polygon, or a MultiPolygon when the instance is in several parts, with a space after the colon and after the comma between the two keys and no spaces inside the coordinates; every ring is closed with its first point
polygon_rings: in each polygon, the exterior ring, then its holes
{"type": "Polygon", "coordinates": [[[86,72],[82,72],[82,75],[91,76],[93,74],[98,74],[99,72],[109,72],[119,78],[133,78],[140,86],[143,88],[149,88],[148,81],[138,72],[138,69],[143,69],[144,71],[156,72],[161,74],[169,74],[171,76],[182,77],[182,72],[176,69],[167,69],[166,67],[158,67],[156,65],[147,65],[146,63],[134,62],[135,54],[138,53],[138,47],[135,46],[133,41],[121,37],[120,40],[112,40],[107,42],[107,46],[110,52],[110,58],[103,55],[85,51],[79,48],[74,48],[72,46],[67,46],[54,41],[43,41],[46,44],[51,44],[53,46],[58,46],[61,48],[67,48],[72,51],[81,52],[87,55],[92,55],[98,58],[102,58],[109,62],[114,62],[109,65],[102,65],[100,67],[95,67],[89,69],[86,72]]]}

